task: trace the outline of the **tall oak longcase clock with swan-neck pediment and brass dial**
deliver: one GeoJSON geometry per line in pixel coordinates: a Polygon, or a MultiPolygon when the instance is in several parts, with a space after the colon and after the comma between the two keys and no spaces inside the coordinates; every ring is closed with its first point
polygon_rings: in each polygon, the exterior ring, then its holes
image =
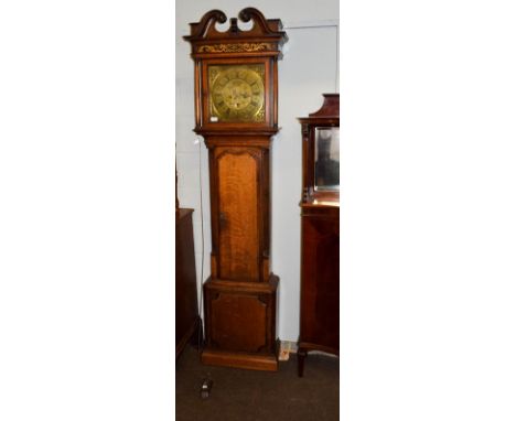
{"type": "Polygon", "coordinates": [[[278,132],[278,19],[240,11],[248,31],[219,10],[191,23],[195,129],[209,151],[212,274],[204,282],[202,361],[277,370],[277,291],[269,269],[270,148],[278,132]]]}

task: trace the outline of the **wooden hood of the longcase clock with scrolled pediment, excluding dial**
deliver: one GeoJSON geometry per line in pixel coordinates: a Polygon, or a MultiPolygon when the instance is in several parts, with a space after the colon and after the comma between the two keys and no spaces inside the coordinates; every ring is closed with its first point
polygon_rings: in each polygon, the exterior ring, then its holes
{"type": "Polygon", "coordinates": [[[249,31],[238,28],[232,18],[229,29],[218,32],[216,23],[225,23],[226,15],[219,10],[207,12],[200,22],[191,23],[191,35],[184,40],[192,44],[195,72],[195,129],[200,134],[212,132],[243,131],[272,136],[278,131],[278,60],[282,58],[281,46],[288,40],[281,31],[279,19],[265,19],[260,11],[246,8],[238,18],[243,22],[252,20],[249,31]],[[213,122],[209,121],[209,86],[207,68],[212,65],[265,66],[265,121],[261,122],[213,122]]]}

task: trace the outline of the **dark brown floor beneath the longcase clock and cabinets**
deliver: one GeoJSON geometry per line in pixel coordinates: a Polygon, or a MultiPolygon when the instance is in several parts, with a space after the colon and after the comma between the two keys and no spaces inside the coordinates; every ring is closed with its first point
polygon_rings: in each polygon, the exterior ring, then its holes
{"type": "Polygon", "coordinates": [[[332,356],[310,354],[299,378],[292,354],[278,373],[267,373],[203,366],[186,346],[175,369],[178,421],[338,420],[338,359],[332,356]],[[204,378],[213,380],[207,399],[200,397],[204,378]]]}

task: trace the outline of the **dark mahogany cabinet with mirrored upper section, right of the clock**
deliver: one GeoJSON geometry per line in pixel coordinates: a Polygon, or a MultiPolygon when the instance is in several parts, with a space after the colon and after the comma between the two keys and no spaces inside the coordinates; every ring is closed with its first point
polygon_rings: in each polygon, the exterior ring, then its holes
{"type": "Polygon", "coordinates": [[[310,350],[338,355],[338,94],[300,118],[303,142],[298,374],[310,350]]]}

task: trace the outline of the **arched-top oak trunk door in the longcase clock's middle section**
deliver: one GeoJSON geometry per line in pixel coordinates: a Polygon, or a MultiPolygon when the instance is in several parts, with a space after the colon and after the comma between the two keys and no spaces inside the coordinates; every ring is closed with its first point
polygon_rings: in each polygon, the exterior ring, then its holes
{"type": "Polygon", "coordinates": [[[219,278],[259,281],[261,153],[252,148],[221,148],[216,162],[219,278]]]}

